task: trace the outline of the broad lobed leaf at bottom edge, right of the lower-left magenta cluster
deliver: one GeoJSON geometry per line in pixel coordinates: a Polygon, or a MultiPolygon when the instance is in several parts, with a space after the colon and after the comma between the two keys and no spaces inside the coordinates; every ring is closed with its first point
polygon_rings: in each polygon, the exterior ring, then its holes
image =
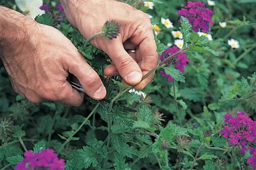
{"type": "Polygon", "coordinates": [[[77,150],[77,155],[82,161],[83,168],[88,168],[91,164],[96,167],[98,164],[97,155],[90,147],[83,147],[83,149],[77,150]]]}

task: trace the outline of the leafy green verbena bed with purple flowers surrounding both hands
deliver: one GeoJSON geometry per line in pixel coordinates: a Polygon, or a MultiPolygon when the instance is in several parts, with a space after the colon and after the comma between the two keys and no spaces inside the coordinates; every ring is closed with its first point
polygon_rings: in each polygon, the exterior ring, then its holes
{"type": "MultiPolygon", "coordinates": [[[[0,2],[14,5],[10,1],[0,2]]],[[[148,9],[144,0],[122,2],[144,12],[148,9]]],[[[100,33],[86,40],[65,18],[60,19],[62,13],[46,1],[50,10],[35,20],[58,28],[72,41],[102,78],[106,99],[111,102],[86,97],[78,108],[50,101],[33,104],[16,96],[1,67],[1,170],[25,166],[66,170],[255,167],[255,12],[244,12],[251,8],[246,0],[240,0],[240,4],[219,1],[214,12],[202,2],[150,2],[155,3],[154,10],[147,12],[154,16],[152,31],[159,62],[143,77],[156,70],[154,80],[143,92],[137,92],[122,84],[120,77],[104,76],[110,59],[88,43],[96,36],[112,41],[118,36],[120,25],[110,18],[100,33]],[[244,8],[240,9],[240,5],[244,8]],[[161,25],[160,17],[162,24],[169,26],[161,25]],[[168,17],[173,18],[175,27],[164,20],[168,17]],[[224,20],[228,21],[225,28],[213,25],[224,20]],[[183,43],[175,41],[176,45],[168,48],[164,44],[174,42],[171,33],[178,29],[176,37],[181,34],[183,43]],[[211,41],[211,35],[203,33],[209,31],[214,35],[211,41]],[[241,47],[230,48],[230,37],[239,39],[241,47]],[[114,103],[135,109],[136,113],[114,103]]],[[[239,46],[232,42],[231,47],[239,46]]]]}

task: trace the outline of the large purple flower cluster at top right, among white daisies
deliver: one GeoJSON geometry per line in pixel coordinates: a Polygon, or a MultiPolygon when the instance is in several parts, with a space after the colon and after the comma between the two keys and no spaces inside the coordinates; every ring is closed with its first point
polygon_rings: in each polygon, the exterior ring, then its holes
{"type": "Polygon", "coordinates": [[[205,4],[201,1],[191,2],[189,1],[185,8],[178,10],[179,16],[184,16],[192,24],[192,30],[198,32],[202,29],[203,32],[209,31],[209,23],[213,26],[212,14],[213,11],[204,7],[205,4]]]}

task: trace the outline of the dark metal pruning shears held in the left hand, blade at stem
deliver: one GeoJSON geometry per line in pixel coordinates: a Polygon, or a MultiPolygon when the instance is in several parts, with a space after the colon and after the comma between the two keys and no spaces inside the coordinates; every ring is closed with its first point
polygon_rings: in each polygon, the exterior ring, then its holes
{"type": "MultiPolygon", "coordinates": [[[[80,92],[80,93],[82,93],[82,94],[88,96],[88,95],[86,94],[86,92],[84,91],[83,87],[82,87],[80,84],[75,83],[75,82],[73,82],[72,80],[70,80],[70,79],[72,79],[72,78],[73,78],[72,76],[68,76],[68,78],[67,78],[67,81],[70,83],[70,85],[72,86],[72,88],[74,88],[74,89],[78,90],[78,92],[80,92]]],[[[107,103],[110,103],[110,102],[111,102],[111,101],[108,100],[108,99],[99,100],[99,102],[102,102],[102,101],[107,102],[107,103]]],[[[123,107],[123,108],[124,108],[124,111],[130,111],[130,112],[134,112],[134,113],[137,112],[137,110],[131,109],[131,108],[126,107],[126,106],[121,105],[121,104],[114,103],[113,105],[123,107]]]]}

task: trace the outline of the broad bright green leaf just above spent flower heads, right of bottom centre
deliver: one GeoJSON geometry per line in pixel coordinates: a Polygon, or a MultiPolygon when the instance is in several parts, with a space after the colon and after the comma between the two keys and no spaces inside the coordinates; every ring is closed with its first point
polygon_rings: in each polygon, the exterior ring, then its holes
{"type": "Polygon", "coordinates": [[[188,136],[188,132],[185,128],[176,126],[174,124],[167,125],[161,132],[160,137],[166,140],[174,140],[178,136],[188,136]]]}

